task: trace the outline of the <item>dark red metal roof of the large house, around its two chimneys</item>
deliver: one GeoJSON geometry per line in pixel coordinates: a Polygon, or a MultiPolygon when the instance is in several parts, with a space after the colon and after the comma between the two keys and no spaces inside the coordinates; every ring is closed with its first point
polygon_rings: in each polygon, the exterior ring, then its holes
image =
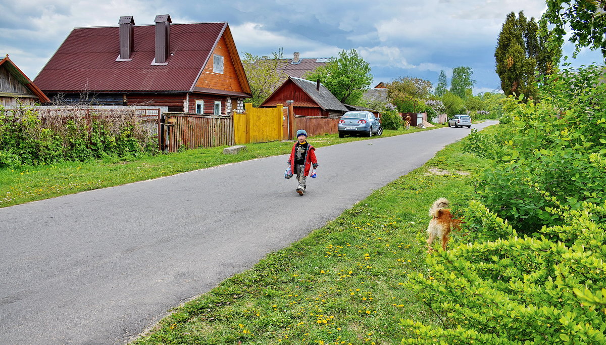
{"type": "Polygon", "coordinates": [[[75,28],[35,79],[45,92],[191,91],[226,22],[171,24],[168,64],[155,58],[155,25],[135,25],[130,61],[119,56],[119,28],[75,28]]]}

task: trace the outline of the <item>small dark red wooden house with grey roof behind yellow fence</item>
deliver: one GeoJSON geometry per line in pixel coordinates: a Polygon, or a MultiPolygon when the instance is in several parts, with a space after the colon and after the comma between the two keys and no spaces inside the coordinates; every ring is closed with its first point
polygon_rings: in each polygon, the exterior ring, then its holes
{"type": "Polygon", "coordinates": [[[320,82],[288,77],[261,108],[275,107],[293,101],[293,112],[298,116],[324,116],[340,118],[347,108],[320,82]]]}

